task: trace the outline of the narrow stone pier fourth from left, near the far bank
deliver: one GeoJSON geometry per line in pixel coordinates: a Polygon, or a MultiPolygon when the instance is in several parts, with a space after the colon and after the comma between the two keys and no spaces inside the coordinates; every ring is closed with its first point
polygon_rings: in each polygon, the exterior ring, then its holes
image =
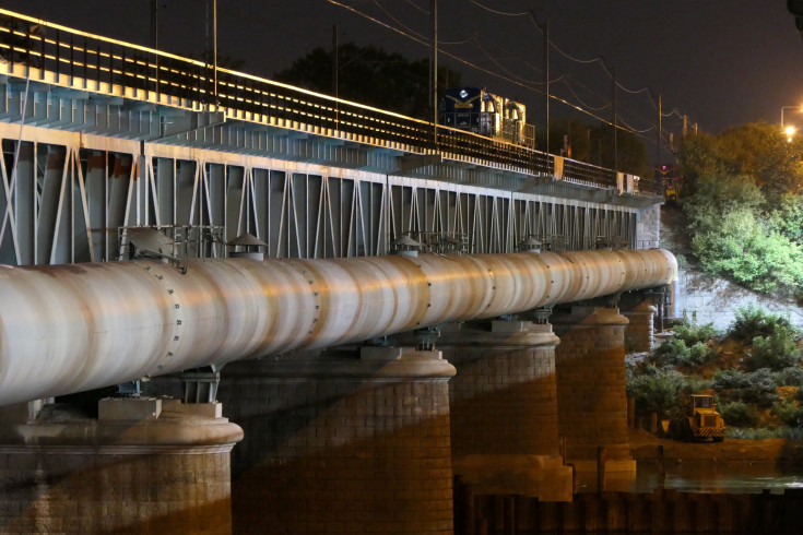
{"type": "Polygon", "coordinates": [[[597,468],[604,447],[606,473],[636,472],[627,429],[625,326],[618,308],[574,307],[554,316],[560,337],[555,352],[560,435],[566,461],[578,471],[597,468]]]}

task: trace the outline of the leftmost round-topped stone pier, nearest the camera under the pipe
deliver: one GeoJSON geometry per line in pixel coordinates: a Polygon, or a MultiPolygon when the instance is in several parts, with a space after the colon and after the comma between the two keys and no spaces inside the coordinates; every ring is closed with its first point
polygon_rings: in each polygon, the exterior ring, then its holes
{"type": "Polygon", "coordinates": [[[232,533],[220,404],[106,399],[0,408],[0,533],[232,533]]]}

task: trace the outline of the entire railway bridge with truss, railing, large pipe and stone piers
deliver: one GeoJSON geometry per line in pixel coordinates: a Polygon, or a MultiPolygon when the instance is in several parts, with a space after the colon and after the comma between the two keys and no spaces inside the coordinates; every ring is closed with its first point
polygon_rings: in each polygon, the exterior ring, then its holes
{"type": "Polygon", "coordinates": [[[456,476],[635,472],[649,180],[0,20],[0,533],[452,533],[456,476]]]}

